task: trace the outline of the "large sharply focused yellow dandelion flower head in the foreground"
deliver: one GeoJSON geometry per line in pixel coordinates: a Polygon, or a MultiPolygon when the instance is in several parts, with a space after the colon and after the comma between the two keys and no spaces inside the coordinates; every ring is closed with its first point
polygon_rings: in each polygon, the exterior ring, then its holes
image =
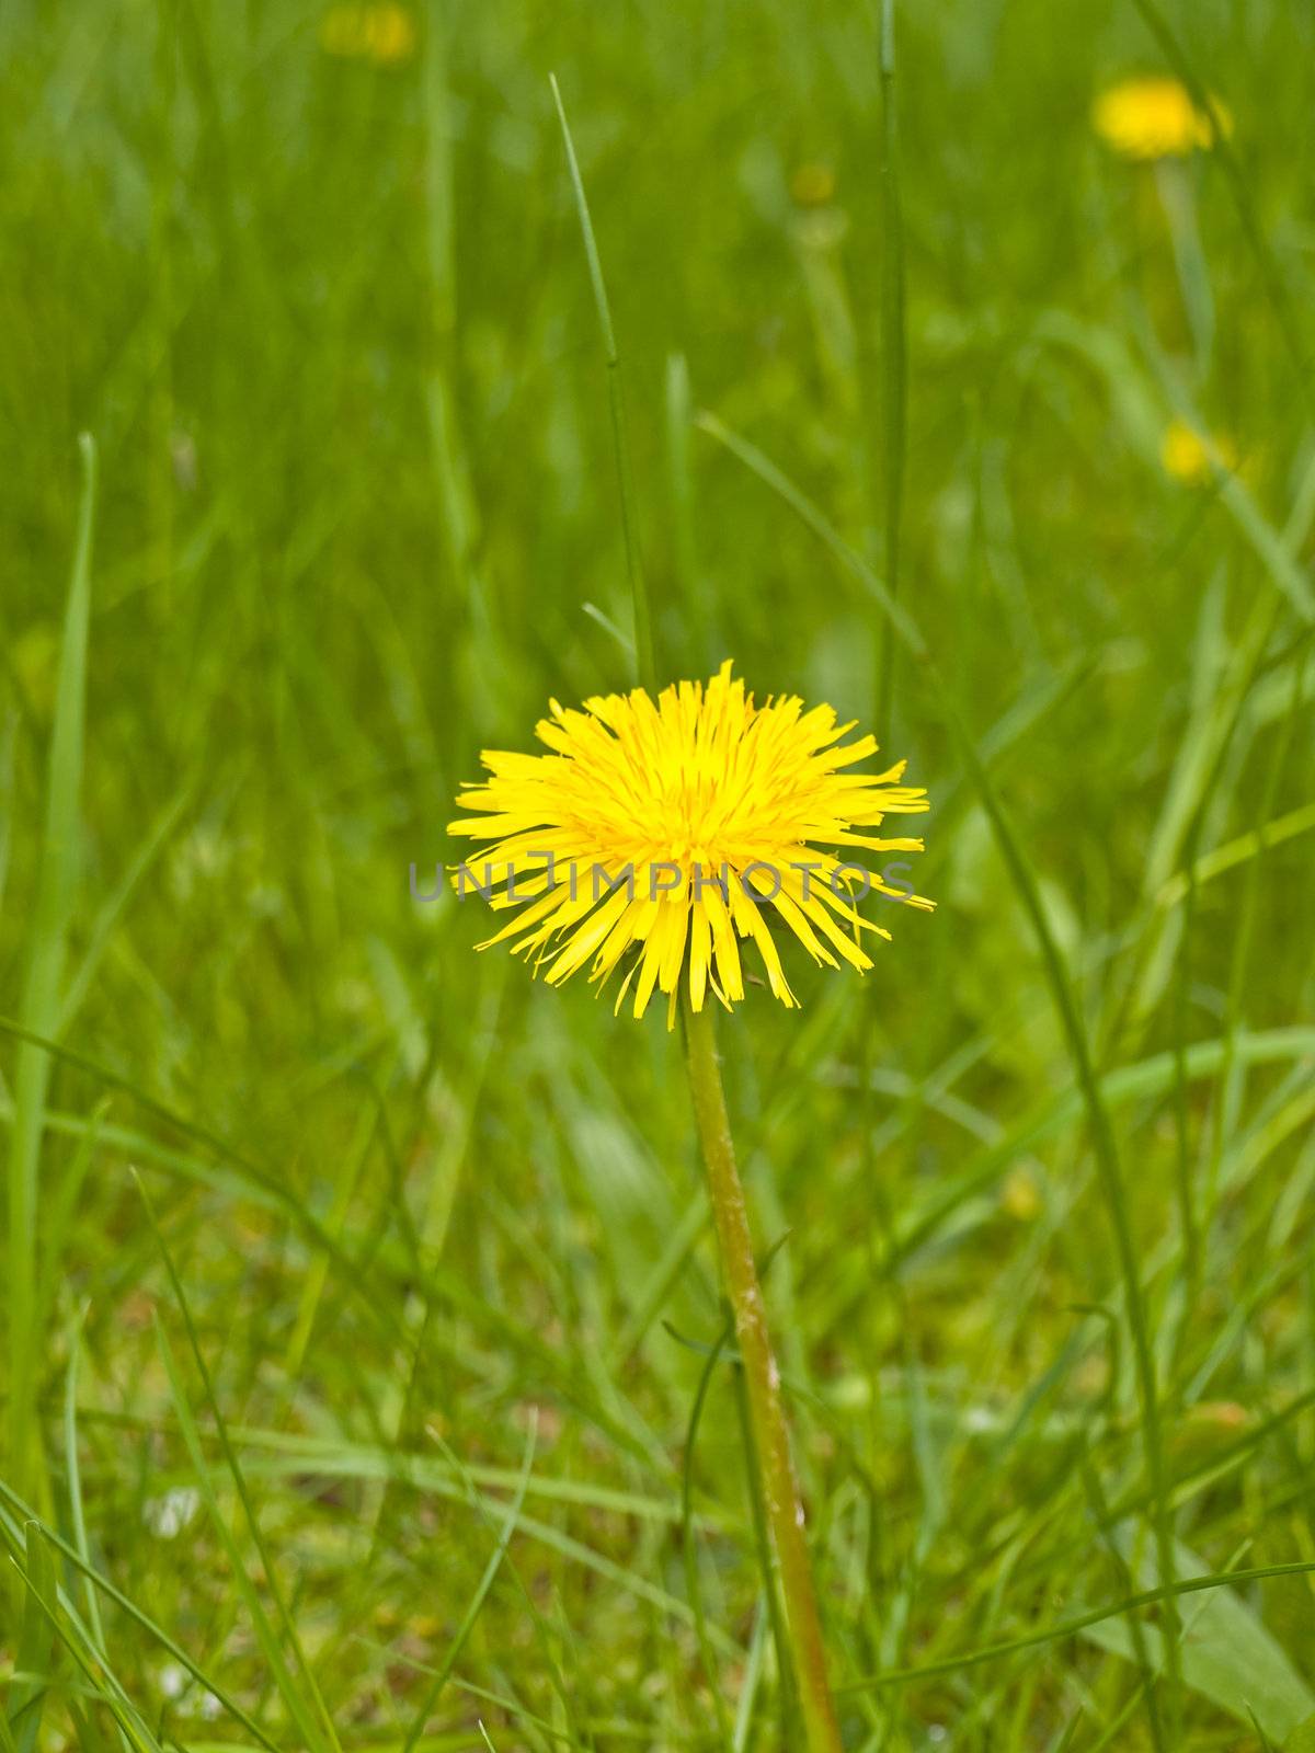
{"type": "Polygon", "coordinates": [[[863,933],[889,931],[857,901],[931,901],[856,854],[920,852],[920,840],[871,829],[928,799],[899,784],[903,761],[856,773],[877,742],[845,742],[852,729],[796,696],[756,705],[729,663],[658,701],[643,689],[582,710],[554,699],[535,727],[551,754],[486,750],[491,777],[463,787],[472,815],[449,826],[491,841],[454,871],[458,894],[475,887],[496,910],[522,908],[480,948],[510,941],[551,985],[587,962],[601,987],[624,964],[615,1008],[631,982],[636,1017],[661,990],[668,1027],[682,980],[696,1011],[708,989],[728,1010],[743,999],[749,940],[771,992],[793,1006],[773,924],[815,962],[866,971],[863,933]]]}

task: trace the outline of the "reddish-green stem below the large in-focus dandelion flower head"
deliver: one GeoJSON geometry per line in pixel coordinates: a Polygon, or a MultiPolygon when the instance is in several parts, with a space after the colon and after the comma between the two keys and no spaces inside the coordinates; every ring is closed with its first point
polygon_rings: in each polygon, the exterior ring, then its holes
{"type": "Polygon", "coordinates": [[[712,1215],[717,1222],[726,1290],[735,1311],[740,1366],[749,1392],[763,1508],[780,1569],[780,1592],[785,1599],[785,1629],[800,1688],[808,1753],[840,1753],[840,1728],[826,1678],[822,1625],[817,1616],[808,1544],[803,1534],[803,1502],[791,1460],[785,1411],[780,1402],[780,1374],[768,1339],[763,1288],[754,1266],[749,1211],[735,1166],[735,1145],[726,1117],[712,1011],[710,1008],[694,1011],[689,1001],[686,1001],[686,1057],[694,1118],[708,1171],[708,1192],[712,1215]]]}

